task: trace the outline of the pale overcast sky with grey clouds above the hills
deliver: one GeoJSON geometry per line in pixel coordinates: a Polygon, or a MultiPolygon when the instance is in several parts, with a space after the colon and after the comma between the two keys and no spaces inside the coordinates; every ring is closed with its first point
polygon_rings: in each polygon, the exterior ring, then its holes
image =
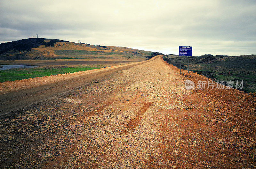
{"type": "Polygon", "coordinates": [[[0,16],[0,43],[38,34],[164,54],[256,54],[256,0],[1,0],[0,16]]]}

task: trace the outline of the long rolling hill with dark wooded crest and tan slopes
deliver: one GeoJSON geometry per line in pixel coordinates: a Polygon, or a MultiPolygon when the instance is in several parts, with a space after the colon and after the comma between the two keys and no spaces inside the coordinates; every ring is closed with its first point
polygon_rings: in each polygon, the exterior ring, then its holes
{"type": "Polygon", "coordinates": [[[147,60],[156,52],[125,47],[95,46],[65,40],[28,38],[0,44],[0,60],[147,60]]]}

